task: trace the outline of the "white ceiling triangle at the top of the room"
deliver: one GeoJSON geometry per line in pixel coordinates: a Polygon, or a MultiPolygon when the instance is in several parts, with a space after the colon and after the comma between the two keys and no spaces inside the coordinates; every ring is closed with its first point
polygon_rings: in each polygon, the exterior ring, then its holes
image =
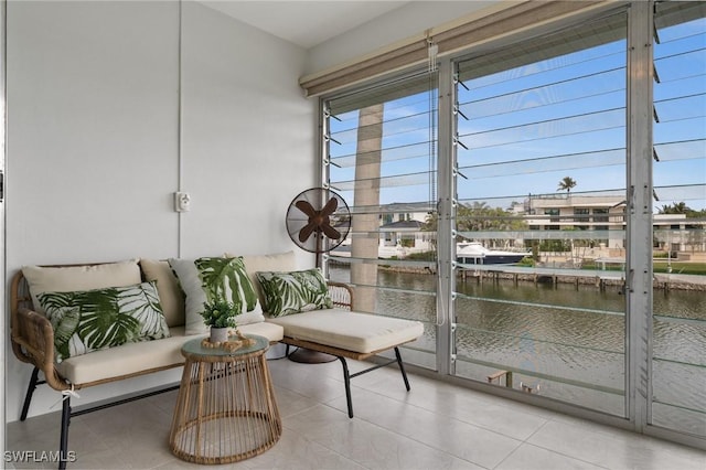
{"type": "Polygon", "coordinates": [[[301,47],[311,49],[409,2],[201,0],[201,3],[301,47]]]}

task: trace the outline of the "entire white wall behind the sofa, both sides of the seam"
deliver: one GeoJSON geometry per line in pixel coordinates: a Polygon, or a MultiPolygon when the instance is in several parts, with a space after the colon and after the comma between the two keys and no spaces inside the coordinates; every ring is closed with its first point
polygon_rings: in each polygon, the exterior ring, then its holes
{"type": "MultiPolygon", "coordinates": [[[[8,281],[28,264],[295,249],[286,207],[315,168],[303,50],[185,2],[180,95],[176,2],[10,1],[7,20],[8,281]]],[[[13,421],[31,366],[6,351],[13,421]]],[[[88,388],[74,405],[178,376],[88,388]]],[[[56,400],[40,386],[30,414],[56,400]]]]}

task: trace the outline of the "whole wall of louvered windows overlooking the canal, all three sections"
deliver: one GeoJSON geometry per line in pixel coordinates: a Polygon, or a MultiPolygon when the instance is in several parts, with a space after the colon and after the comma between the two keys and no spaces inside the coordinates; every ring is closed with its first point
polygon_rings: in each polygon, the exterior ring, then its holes
{"type": "Polygon", "coordinates": [[[705,439],[704,293],[673,284],[706,259],[705,17],[608,4],[324,97],[330,277],[425,323],[417,365],[705,439]]]}

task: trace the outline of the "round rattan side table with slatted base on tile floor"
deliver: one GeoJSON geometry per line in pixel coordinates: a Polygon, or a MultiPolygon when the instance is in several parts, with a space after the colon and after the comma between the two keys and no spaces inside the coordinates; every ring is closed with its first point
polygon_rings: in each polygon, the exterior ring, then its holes
{"type": "Polygon", "coordinates": [[[234,352],[204,348],[202,338],[184,343],[186,359],[169,434],[180,459],[229,463],[258,456],[282,432],[264,337],[234,352]]]}

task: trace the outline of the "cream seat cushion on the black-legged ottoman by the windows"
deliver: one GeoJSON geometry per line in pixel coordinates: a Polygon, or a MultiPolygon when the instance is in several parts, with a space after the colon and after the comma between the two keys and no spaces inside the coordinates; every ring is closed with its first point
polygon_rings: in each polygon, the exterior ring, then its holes
{"type": "Polygon", "coordinates": [[[267,318],[285,329],[285,337],[333,348],[371,353],[413,341],[424,333],[419,321],[351,312],[343,309],[313,310],[267,318]]]}

